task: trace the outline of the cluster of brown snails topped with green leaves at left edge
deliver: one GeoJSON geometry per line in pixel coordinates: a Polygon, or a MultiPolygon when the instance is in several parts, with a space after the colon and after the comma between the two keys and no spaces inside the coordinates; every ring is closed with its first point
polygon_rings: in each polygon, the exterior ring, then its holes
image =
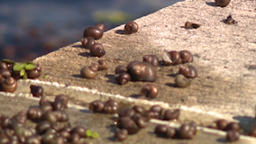
{"type": "Polygon", "coordinates": [[[9,59],[0,62],[0,91],[13,93],[17,88],[17,80],[41,76],[41,65],[30,61],[17,63],[9,59]]]}

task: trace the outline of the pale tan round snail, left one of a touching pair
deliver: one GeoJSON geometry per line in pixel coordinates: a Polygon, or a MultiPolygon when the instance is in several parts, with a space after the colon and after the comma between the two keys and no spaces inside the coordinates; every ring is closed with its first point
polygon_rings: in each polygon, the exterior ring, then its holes
{"type": "Polygon", "coordinates": [[[92,65],[90,67],[83,67],[80,70],[80,75],[84,78],[93,79],[96,77],[98,71],[98,65],[92,65]]]}

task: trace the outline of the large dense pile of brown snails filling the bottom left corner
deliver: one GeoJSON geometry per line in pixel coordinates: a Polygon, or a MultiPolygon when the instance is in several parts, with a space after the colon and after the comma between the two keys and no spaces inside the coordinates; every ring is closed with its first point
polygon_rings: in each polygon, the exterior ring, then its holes
{"type": "Polygon", "coordinates": [[[69,123],[68,97],[59,94],[54,102],[42,97],[39,107],[31,107],[13,117],[0,116],[0,143],[64,144],[83,143],[85,138],[97,138],[98,134],[83,126],[71,128],[69,123]],[[29,123],[36,126],[27,126],[29,123]]]}

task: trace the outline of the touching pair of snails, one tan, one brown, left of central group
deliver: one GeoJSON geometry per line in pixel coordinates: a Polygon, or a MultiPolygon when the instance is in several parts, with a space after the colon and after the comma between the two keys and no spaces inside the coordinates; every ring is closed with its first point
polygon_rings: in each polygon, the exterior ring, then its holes
{"type": "Polygon", "coordinates": [[[80,75],[84,78],[93,79],[97,76],[97,72],[107,69],[107,64],[104,59],[99,59],[96,63],[93,63],[89,67],[82,67],[80,75]]]}

